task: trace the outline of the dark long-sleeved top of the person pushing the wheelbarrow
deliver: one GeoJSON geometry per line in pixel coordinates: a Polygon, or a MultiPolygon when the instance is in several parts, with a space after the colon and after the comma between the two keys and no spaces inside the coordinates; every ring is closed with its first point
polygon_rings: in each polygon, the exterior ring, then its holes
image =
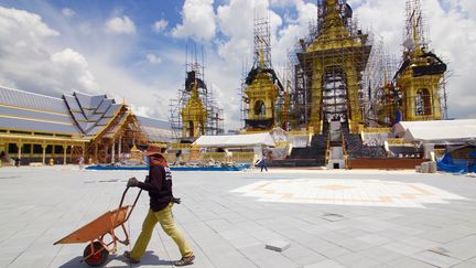
{"type": "Polygon", "coordinates": [[[148,191],[150,208],[154,212],[162,211],[172,201],[172,173],[169,167],[151,165],[149,179],[139,182],[139,187],[148,191]]]}

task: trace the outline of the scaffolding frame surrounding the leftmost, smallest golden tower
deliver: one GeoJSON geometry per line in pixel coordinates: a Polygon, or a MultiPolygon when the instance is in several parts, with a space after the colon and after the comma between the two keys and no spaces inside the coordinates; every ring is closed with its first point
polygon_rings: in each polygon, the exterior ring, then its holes
{"type": "Polygon", "coordinates": [[[170,121],[176,141],[193,141],[190,138],[183,137],[184,121],[182,111],[192,97],[193,90],[190,87],[193,86],[194,83],[197,84],[196,89],[198,92],[198,98],[206,111],[205,114],[207,115],[203,133],[216,136],[225,132],[224,110],[218,106],[217,100],[213,96],[213,87],[208,86],[205,82],[205,66],[203,63],[203,51],[201,64],[197,60],[196,47],[191,51],[186,47],[185,84],[183,84],[182,88],[178,89],[176,98],[171,99],[169,105],[170,121]]]}

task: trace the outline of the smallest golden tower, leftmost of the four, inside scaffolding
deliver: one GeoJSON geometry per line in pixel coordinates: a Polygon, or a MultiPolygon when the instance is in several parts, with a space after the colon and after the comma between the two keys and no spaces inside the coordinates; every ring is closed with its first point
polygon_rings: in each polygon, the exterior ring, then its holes
{"type": "Polygon", "coordinates": [[[191,98],[181,110],[182,115],[182,138],[195,139],[205,135],[205,126],[208,112],[198,97],[198,82],[192,84],[191,98]]]}

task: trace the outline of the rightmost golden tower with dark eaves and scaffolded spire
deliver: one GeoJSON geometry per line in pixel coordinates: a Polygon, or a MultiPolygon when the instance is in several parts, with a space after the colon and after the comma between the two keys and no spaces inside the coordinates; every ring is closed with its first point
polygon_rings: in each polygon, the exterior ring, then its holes
{"type": "Polygon", "coordinates": [[[420,1],[408,1],[407,8],[403,63],[396,75],[397,88],[401,93],[401,119],[439,120],[442,119],[439,88],[446,64],[428,52],[420,1]]]}

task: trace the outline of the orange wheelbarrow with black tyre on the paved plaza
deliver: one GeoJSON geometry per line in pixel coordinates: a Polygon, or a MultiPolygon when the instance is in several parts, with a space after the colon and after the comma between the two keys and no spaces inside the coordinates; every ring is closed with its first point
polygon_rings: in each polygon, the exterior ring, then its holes
{"type": "Polygon", "coordinates": [[[88,242],[89,244],[86,246],[80,261],[86,261],[89,266],[102,266],[109,254],[116,253],[118,243],[126,246],[129,245],[129,234],[125,227],[125,223],[129,219],[142,190],[139,191],[132,205],[122,206],[128,190],[129,187],[126,187],[122,193],[122,199],[117,210],[106,212],[53,245],[88,242]],[[125,233],[126,238],[123,240],[119,239],[115,233],[115,229],[118,227],[121,227],[125,233]],[[112,240],[110,243],[106,244],[104,239],[106,235],[111,237],[112,240]]]}

